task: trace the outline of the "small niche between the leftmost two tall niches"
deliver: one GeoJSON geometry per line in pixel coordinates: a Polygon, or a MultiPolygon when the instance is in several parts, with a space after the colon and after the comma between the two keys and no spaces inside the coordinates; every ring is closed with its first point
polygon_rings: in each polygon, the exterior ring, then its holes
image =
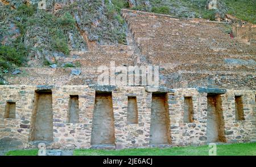
{"type": "Polygon", "coordinates": [[[79,122],[79,96],[78,95],[69,96],[68,122],[69,123],[79,122]]]}

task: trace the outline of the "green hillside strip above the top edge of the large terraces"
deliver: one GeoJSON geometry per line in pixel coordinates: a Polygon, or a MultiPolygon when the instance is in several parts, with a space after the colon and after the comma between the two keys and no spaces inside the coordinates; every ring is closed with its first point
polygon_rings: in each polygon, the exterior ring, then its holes
{"type": "Polygon", "coordinates": [[[219,2],[220,6],[217,10],[207,10],[205,8],[207,0],[149,0],[150,7],[146,6],[143,0],[137,2],[139,4],[133,7],[133,10],[170,14],[181,18],[201,17],[209,20],[215,19],[216,12],[222,17],[228,13],[238,19],[256,23],[255,0],[224,0],[224,2],[219,2]]]}

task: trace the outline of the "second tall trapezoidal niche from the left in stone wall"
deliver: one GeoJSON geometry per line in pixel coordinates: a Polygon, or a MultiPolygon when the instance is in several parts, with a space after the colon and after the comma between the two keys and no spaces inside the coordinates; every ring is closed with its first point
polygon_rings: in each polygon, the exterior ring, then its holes
{"type": "Polygon", "coordinates": [[[114,145],[114,112],[112,92],[96,92],[91,145],[114,145]]]}

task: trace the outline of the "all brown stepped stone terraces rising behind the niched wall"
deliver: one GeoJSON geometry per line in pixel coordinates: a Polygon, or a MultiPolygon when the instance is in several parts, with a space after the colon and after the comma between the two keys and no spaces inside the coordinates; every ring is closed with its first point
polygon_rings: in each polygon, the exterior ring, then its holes
{"type": "Polygon", "coordinates": [[[122,10],[129,25],[127,45],[98,46],[74,52],[58,62],[80,62],[80,76],[70,68],[22,68],[10,84],[95,84],[97,67],[159,65],[160,84],[170,88],[216,87],[255,89],[256,44],[231,38],[230,24],[204,19],[122,10]],[[64,79],[65,78],[65,79],[64,79]]]}

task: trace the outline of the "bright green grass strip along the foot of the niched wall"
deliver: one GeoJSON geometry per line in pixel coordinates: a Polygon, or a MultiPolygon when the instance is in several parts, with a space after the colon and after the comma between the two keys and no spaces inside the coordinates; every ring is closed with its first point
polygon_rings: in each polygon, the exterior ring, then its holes
{"type": "MultiPolygon", "coordinates": [[[[96,150],[96,149],[75,149],[73,155],[76,156],[208,156],[208,145],[199,147],[172,147],[172,148],[136,148],[122,150],[96,150]]],[[[12,156],[32,156],[36,155],[37,149],[9,151],[6,155],[12,156]]],[[[217,145],[218,156],[256,156],[256,143],[241,143],[217,145]]]]}

